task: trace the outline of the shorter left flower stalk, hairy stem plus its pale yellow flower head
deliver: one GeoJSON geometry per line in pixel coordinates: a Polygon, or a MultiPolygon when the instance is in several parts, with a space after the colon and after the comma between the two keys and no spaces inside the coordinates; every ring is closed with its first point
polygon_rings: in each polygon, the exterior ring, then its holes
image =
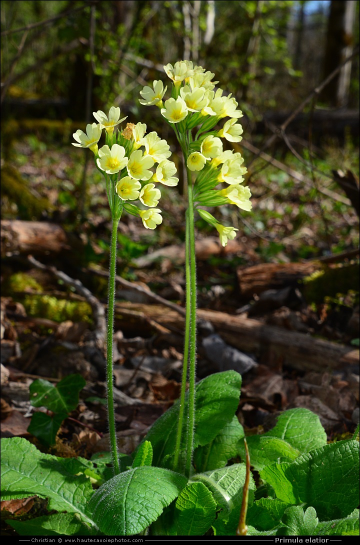
{"type": "Polygon", "coordinates": [[[120,473],[115,408],[113,394],[113,328],[115,308],[115,276],[118,226],[123,211],[142,219],[146,229],[155,229],[162,223],[157,204],[161,198],[158,184],[174,186],[179,179],[174,176],[176,167],[168,158],[169,146],[156,132],[147,132],[144,123],[127,123],[125,130],[115,134],[114,129],[126,118],[120,119],[120,108],[111,107],[108,116],[94,112],[97,124],[88,124],[86,133],[74,133],[74,146],[89,148],[95,155],[95,165],[105,178],[106,194],[111,211],[111,244],[108,284],[106,383],[109,437],[114,475],[120,473]],[[105,145],[98,143],[105,129],[105,145]],[[131,203],[129,201],[132,201],[131,203]],[[139,201],[140,206],[133,201],[139,201]],[[145,207],[145,208],[144,208],[145,207]]]}

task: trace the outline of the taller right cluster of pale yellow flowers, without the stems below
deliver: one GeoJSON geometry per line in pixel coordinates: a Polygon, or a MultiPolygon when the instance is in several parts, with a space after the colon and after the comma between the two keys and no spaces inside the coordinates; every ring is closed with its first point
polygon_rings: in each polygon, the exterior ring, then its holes
{"type": "MultiPolygon", "coordinates": [[[[242,210],[251,210],[251,192],[243,185],[243,166],[240,153],[224,150],[222,138],[228,142],[240,142],[242,126],[238,123],[242,112],[231,94],[224,95],[222,89],[215,90],[214,74],[202,66],[193,66],[181,60],[173,66],[164,66],[172,80],[172,96],[163,101],[167,87],[154,81],[153,88],[147,86],[140,92],[141,104],[160,108],[162,116],[171,125],[185,154],[189,171],[196,173],[194,202],[196,206],[216,207],[235,204],[242,210]],[[221,129],[215,126],[225,120],[221,129]],[[197,129],[193,135],[193,129],[197,129]]],[[[160,181],[160,180],[158,180],[160,181]]],[[[234,239],[234,227],[224,227],[209,212],[198,209],[200,216],[215,227],[223,246],[234,239]]]]}

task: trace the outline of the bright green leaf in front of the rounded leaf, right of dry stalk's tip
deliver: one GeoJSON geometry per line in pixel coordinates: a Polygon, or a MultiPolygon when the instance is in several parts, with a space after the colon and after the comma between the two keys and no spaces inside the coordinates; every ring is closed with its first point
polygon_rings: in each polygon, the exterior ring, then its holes
{"type": "MultiPolygon", "coordinates": [[[[250,453],[251,465],[257,471],[265,465],[278,462],[282,458],[284,462],[295,460],[301,452],[294,449],[289,443],[278,437],[268,435],[249,435],[246,438],[250,453]]],[[[241,459],[245,460],[245,446],[243,441],[239,445],[241,459]]]]}

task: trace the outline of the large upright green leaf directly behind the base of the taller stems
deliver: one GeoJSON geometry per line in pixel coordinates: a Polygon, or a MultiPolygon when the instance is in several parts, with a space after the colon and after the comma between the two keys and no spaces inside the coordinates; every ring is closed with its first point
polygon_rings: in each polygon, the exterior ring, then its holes
{"type": "MultiPolygon", "coordinates": [[[[239,405],[240,388],[241,376],[235,371],[212,374],[196,385],[194,448],[210,443],[224,426],[233,420],[239,405]]],[[[187,399],[185,405],[187,410],[187,399]]],[[[152,445],[154,451],[152,463],[156,466],[172,467],[178,416],[179,403],[177,402],[154,423],[145,437],[152,445]]],[[[185,450],[186,444],[185,429],[186,419],[184,419],[182,451],[185,450]]]]}

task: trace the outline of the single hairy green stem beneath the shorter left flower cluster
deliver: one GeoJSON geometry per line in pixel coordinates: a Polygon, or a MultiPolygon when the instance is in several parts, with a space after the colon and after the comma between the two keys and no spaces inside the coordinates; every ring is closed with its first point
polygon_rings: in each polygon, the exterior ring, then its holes
{"type": "MultiPolygon", "coordinates": [[[[120,213],[121,216],[121,213],[120,213]]],[[[120,217],[116,215],[112,219],[110,269],[109,269],[109,300],[107,311],[107,353],[106,353],[106,383],[107,383],[107,411],[109,423],[109,435],[111,455],[113,460],[114,475],[120,473],[118,447],[115,428],[114,391],[113,391],[113,337],[114,337],[114,306],[115,306],[115,274],[116,274],[116,249],[118,237],[118,225],[120,217]]]]}

